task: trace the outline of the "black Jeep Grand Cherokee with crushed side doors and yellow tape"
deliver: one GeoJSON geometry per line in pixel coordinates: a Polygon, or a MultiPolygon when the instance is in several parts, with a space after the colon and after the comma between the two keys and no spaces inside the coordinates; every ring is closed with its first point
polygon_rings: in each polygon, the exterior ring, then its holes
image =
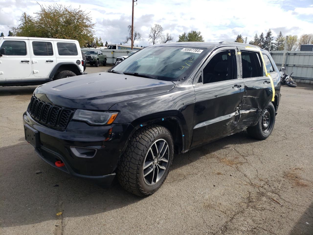
{"type": "Polygon", "coordinates": [[[167,177],[174,152],[247,129],[274,128],[280,73],[265,50],[242,43],[149,46],[108,72],[38,86],[24,113],[26,140],[71,175],[139,196],[167,177]]]}

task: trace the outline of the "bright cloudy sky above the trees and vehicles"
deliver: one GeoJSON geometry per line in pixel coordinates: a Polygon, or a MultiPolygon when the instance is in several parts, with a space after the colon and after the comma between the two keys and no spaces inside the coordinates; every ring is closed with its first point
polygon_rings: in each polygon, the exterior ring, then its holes
{"type": "MultiPolygon", "coordinates": [[[[53,1],[0,0],[0,32],[8,34],[8,26],[17,26],[26,12],[33,14],[39,6],[53,1]]],[[[96,35],[108,43],[121,43],[131,24],[131,0],[64,0],[55,1],[66,6],[81,7],[90,12],[96,23],[96,35]]],[[[136,4],[136,3],[135,3],[136,4]]],[[[164,33],[172,34],[174,41],[184,31],[201,31],[205,41],[233,41],[238,34],[252,40],[255,33],[273,36],[281,30],[284,35],[313,33],[313,0],[138,0],[135,6],[134,26],[143,39],[135,45],[146,46],[150,27],[160,24],[164,33]],[[239,2],[242,2],[239,4],[239,2]]]]}

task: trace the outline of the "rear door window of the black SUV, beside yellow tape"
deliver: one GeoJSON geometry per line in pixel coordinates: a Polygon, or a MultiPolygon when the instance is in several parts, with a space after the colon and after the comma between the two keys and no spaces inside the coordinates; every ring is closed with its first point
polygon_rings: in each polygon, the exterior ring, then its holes
{"type": "Polygon", "coordinates": [[[262,77],[262,63],[259,53],[241,51],[242,78],[262,77]]]}

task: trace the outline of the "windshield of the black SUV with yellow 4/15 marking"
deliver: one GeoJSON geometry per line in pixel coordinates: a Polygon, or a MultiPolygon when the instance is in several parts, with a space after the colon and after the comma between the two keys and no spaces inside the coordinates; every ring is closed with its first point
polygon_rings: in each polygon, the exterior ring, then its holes
{"type": "Polygon", "coordinates": [[[115,65],[113,70],[178,81],[187,75],[205,51],[204,48],[146,47],[115,65]]]}

